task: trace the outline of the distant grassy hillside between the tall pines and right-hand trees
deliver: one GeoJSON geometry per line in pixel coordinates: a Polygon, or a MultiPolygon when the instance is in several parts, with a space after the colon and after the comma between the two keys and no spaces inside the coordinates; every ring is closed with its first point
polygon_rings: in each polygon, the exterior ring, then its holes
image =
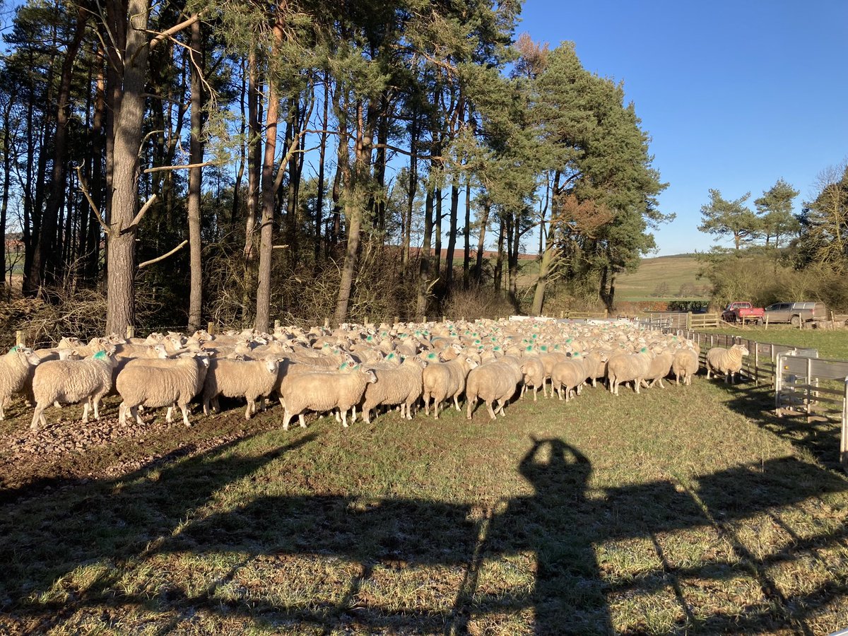
{"type": "Polygon", "coordinates": [[[639,270],[616,278],[619,300],[710,298],[711,285],[696,277],[700,264],[694,254],[674,254],[642,259],[639,270]]]}

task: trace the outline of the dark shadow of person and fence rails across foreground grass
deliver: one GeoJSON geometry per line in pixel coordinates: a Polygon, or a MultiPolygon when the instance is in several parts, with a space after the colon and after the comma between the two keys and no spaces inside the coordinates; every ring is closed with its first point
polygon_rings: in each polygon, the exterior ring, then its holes
{"type": "Polygon", "coordinates": [[[589,498],[589,458],[562,439],[533,439],[517,466],[533,494],[488,509],[333,494],[216,500],[237,480],[269,478],[269,462],[315,437],[255,457],[215,449],[89,488],[85,496],[57,494],[37,510],[29,502],[13,510],[3,522],[9,540],[0,546],[0,560],[9,564],[0,581],[0,628],[5,621],[20,631],[47,631],[85,611],[134,610],[158,616],[159,633],[186,628],[198,615],[281,632],[470,633],[521,616],[520,624],[538,634],[611,633],[612,598],[672,590],[680,632],[809,632],[809,613],[845,592],[831,583],[785,597],[770,574],[799,553],[844,543],[845,530],[799,537],[757,556],[734,527],[845,490],[844,478],[791,458],[689,485],[659,480],[589,498]],[[32,536],[8,533],[16,521],[26,522],[32,536]],[[667,558],[668,533],[703,527],[726,539],[734,563],[678,566],[667,558]],[[599,546],[638,538],[650,541],[659,565],[644,576],[608,576],[599,546]],[[491,578],[493,566],[502,566],[505,577],[513,561],[532,572],[528,584],[521,572],[515,581],[491,578]],[[200,571],[172,577],[156,572],[162,563],[200,571]],[[96,576],[65,590],[68,575],[85,566],[98,566],[96,576]],[[145,566],[152,571],[144,573],[145,566]],[[756,581],[767,602],[696,615],[687,582],[720,585],[738,576],[734,566],[756,581]],[[133,577],[139,580],[127,583],[133,577]],[[417,591],[403,592],[404,585],[417,591]]]}

